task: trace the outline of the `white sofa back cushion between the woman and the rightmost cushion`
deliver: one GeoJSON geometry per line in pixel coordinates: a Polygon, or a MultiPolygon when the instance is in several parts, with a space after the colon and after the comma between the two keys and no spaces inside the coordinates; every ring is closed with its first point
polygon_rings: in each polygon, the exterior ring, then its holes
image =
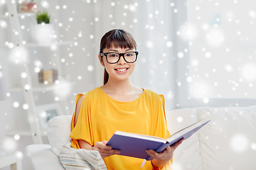
{"type": "MultiPolygon", "coordinates": [[[[191,108],[183,108],[167,112],[166,119],[171,134],[198,121],[196,110],[191,108]]],[[[174,152],[173,169],[202,170],[199,151],[198,132],[196,132],[176,148],[174,152]]]]}

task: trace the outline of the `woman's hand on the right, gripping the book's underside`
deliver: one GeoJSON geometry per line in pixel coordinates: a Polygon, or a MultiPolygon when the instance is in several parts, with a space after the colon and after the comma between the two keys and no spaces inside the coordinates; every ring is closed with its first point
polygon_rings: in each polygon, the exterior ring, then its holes
{"type": "Polygon", "coordinates": [[[171,158],[174,156],[174,150],[178,147],[178,145],[181,145],[181,142],[184,139],[178,140],[174,145],[166,147],[163,152],[157,153],[152,149],[146,150],[146,153],[149,154],[153,160],[151,161],[154,166],[164,166],[167,164],[171,158]]]}

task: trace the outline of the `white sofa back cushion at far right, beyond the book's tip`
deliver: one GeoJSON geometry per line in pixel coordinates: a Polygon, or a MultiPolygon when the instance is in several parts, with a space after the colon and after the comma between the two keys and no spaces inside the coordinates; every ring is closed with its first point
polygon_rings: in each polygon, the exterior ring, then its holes
{"type": "Polygon", "coordinates": [[[204,170],[256,169],[256,106],[196,111],[211,120],[199,131],[204,170]]]}

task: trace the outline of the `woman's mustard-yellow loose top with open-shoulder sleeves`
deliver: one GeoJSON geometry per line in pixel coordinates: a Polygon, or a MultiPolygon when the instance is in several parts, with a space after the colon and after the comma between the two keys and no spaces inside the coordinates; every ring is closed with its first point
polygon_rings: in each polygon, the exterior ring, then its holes
{"type": "MultiPolygon", "coordinates": [[[[121,102],[114,100],[98,87],[86,94],[78,94],[76,103],[80,96],[84,98],[76,125],[75,113],[73,114],[71,147],[79,149],[78,140],[85,140],[92,146],[96,142],[108,141],[117,130],[164,139],[170,136],[162,95],[144,90],[134,101],[121,102]]],[[[113,155],[106,157],[104,161],[107,169],[153,169],[150,161],[141,168],[143,159],[134,157],[113,155]]],[[[171,162],[163,169],[171,169],[171,162]]]]}

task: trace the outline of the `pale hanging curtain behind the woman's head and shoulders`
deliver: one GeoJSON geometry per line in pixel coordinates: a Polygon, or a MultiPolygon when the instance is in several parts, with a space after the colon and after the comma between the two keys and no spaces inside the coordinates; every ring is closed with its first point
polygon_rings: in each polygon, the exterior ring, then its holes
{"type": "Polygon", "coordinates": [[[97,58],[100,38],[108,30],[121,28],[137,41],[139,57],[132,83],[164,94],[166,111],[175,107],[174,49],[178,27],[176,18],[180,12],[175,1],[66,0],[59,3],[60,12],[55,25],[58,25],[63,40],[74,42],[72,47],[61,51],[66,57],[63,65],[68,62],[65,75],[77,82],[73,86],[75,94],[102,85],[104,69],[97,58]]]}

